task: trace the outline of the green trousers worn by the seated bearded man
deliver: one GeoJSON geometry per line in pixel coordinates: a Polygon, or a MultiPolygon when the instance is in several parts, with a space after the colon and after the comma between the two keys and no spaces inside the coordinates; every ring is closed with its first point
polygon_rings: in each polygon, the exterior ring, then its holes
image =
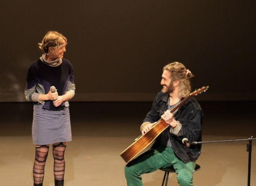
{"type": "Polygon", "coordinates": [[[180,186],[193,186],[195,162],[184,163],[166,146],[150,149],[125,166],[127,186],[142,186],[141,174],[168,166],[174,166],[180,186]]]}

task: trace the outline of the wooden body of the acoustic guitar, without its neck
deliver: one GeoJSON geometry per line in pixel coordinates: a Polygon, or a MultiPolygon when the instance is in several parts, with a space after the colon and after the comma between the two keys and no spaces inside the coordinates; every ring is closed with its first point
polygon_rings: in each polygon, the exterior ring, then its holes
{"type": "Polygon", "coordinates": [[[132,145],[125,149],[120,156],[126,163],[135,159],[135,157],[147,148],[168,126],[169,125],[164,120],[160,120],[147,133],[144,133],[132,145]]]}

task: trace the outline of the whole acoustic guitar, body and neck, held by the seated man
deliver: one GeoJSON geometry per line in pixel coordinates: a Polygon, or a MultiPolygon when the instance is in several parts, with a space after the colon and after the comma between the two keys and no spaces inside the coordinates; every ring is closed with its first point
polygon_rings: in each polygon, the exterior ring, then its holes
{"type": "MultiPolygon", "coordinates": [[[[178,105],[176,105],[171,113],[174,113],[180,106],[182,106],[190,96],[198,95],[199,93],[205,92],[209,86],[203,86],[200,89],[195,90],[193,93],[190,93],[186,98],[184,98],[178,105]]],[[[128,146],[120,156],[125,160],[126,163],[135,159],[146,147],[148,147],[167,127],[167,124],[162,118],[158,120],[148,132],[141,134],[138,138],[135,139],[135,142],[128,146]]]]}

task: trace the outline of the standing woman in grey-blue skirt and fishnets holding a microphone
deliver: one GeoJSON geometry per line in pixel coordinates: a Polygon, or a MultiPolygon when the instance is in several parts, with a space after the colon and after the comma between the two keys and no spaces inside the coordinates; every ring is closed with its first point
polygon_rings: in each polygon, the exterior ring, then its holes
{"type": "Polygon", "coordinates": [[[61,33],[47,32],[38,45],[44,54],[29,67],[25,89],[26,99],[34,103],[34,186],[42,186],[50,144],[53,144],[55,186],[63,186],[64,152],[67,142],[72,140],[67,100],[74,96],[73,66],[63,59],[67,38],[61,33]]]}

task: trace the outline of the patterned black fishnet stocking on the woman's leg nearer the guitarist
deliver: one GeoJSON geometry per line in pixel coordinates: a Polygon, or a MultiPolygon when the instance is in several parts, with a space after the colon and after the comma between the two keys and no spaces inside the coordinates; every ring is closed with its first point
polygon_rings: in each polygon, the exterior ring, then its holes
{"type": "Polygon", "coordinates": [[[54,156],[54,178],[61,180],[64,179],[65,173],[65,159],[64,153],[66,146],[63,143],[54,146],[53,145],[53,156],[54,156]]]}

